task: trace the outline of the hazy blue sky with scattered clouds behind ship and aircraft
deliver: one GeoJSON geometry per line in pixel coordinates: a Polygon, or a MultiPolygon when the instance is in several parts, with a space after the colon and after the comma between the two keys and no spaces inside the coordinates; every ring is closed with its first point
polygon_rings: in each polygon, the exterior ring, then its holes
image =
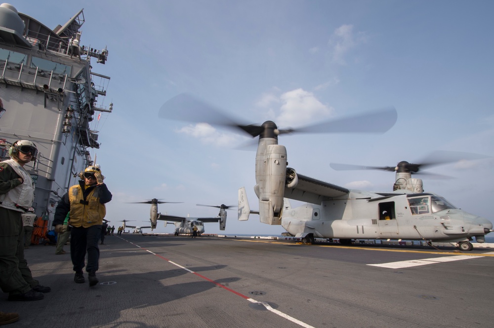
{"type": "MultiPolygon", "coordinates": [[[[114,194],[107,218],[144,225],[160,198],[170,215],[216,216],[196,204],[235,205],[247,188],[257,208],[255,152],[234,150],[248,139],[208,125],[158,118],[170,98],[188,92],[250,123],[297,127],[394,106],[383,135],[280,137],[289,166],[326,182],[392,190],[394,173],[334,171],[329,163],[392,166],[430,152],[494,154],[493,1],[19,1],[19,12],[50,28],[84,8],[81,44],[108,47],[111,76],[98,104],[114,104],[94,129],[92,151],[114,194]]],[[[493,220],[492,158],[453,163],[424,178],[435,192],[493,220]]],[[[227,234],[279,234],[252,215],[229,211],[227,234]]],[[[159,232],[173,228],[159,225],[159,232]]],[[[206,224],[206,232],[219,232],[206,224]]]]}

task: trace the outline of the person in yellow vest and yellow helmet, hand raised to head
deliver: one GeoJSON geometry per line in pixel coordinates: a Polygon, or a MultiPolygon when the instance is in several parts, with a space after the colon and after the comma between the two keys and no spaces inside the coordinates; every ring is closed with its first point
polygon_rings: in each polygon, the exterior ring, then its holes
{"type": "Polygon", "coordinates": [[[101,225],[106,215],[105,204],[112,200],[112,193],[103,182],[101,169],[88,166],[80,175],[79,184],[73,185],[62,196],[55,209],[53,225],[56,232],[61,232],[67,213],[70,226],[70,257],[76,272],[74,281],[83,284],[84,260],[87,252],[89,286],[98,283],[96,271],[99,268],[98,240],[101,238],[101,225]]]}

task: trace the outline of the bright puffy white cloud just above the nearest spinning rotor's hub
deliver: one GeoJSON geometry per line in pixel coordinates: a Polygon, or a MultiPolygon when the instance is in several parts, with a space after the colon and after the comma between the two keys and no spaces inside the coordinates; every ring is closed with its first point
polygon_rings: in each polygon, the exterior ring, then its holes
{"type": "Polygon", "coordinates": [[[276,122],[280,127],[293,127],[307,124],[314,117],[327,117],[333,109],[322,104],[314,94],[301,88],[288,91],[280,96],[283,103],[281,114],[276,122]]]}

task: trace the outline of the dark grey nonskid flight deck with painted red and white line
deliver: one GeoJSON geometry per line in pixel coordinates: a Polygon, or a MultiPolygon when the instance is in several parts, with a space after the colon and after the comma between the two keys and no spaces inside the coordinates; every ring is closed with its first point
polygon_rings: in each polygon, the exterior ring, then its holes
{"type": "MultiPolygon", "coordinates": [[[[200,237],[109,236],[100,284],[73,281],[70,247],[33,246],[41,301],[8,327],[489,327],[494,258],[200,237]],[[438,258],[400,269],[369,264],[438,258]],[[250,299],[249,299],[250,298],[250,299]],[[259,303],[264,302],[264,303],[259,303]],[[266,306],[267,305],[267,306],[266,306]]],[[[87,280],[87,274],[85,274],[87,280]]]]}

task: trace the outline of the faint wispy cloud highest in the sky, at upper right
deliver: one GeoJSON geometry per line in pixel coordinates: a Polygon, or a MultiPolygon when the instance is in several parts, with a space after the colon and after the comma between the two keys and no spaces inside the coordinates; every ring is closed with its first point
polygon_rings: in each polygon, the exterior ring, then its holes
{"type": "Polygon", "coordinates": [[[353,48],[366,41],[364,33],[353,32],[353,25],[342,25],[329,39],[331,60],[339,65],[346,65],[346,57],[353,48]]]}

